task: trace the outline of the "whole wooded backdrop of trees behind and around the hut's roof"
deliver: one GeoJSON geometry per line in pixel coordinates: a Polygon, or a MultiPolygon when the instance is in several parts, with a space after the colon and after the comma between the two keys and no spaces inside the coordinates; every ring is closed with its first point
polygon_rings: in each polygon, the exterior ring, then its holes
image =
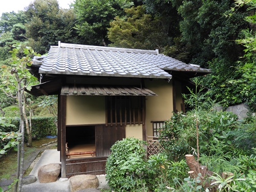
{"type": "MultiPolygon", "coordinates": [[[[35,0],[24,10],[3,13],[0,20],[0,83],[7,89],[3,74],[14,44],[41,55],[58,41],[159,49],[211,69],[201,83],[212,99],[224,106],[246,102],[255,111],[255,6],[249,0],[76,0],[70,9],[59,8],[57,0],[35,0]]],[[[34,103],[45,99],[28,97],[34,103]]],[[[3,114],[15,103],[0,92],[3,114]]]]}

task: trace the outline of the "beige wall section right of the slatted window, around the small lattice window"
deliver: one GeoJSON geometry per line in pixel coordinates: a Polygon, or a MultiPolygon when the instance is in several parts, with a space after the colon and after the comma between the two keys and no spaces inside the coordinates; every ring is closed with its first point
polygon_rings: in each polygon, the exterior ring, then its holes
{"type": "Polygon", "coordinates": [[[145,87],[158,95],[146,97],[146,132],[147,136],[153,136],[151,121],[165,121],[173,115],[172,80],[148,80],[145,81],[145,87]]]}

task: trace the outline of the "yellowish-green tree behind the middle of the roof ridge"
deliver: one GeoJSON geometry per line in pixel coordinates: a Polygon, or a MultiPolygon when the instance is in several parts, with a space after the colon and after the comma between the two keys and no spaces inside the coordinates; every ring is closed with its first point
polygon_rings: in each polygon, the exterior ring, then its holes
{"type": "Polygon", "coordinates": [[[163,49],[170,39],[163,17],[145,14],[142,6],[125,9],[125,17],[115,17],[108,32],[111,46],[132,49],[163,49]]]}

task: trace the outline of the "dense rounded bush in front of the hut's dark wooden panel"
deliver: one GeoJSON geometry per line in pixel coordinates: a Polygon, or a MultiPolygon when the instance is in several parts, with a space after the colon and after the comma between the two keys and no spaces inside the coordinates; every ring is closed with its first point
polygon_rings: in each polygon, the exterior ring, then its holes
{"type": "Polygon", "coordinates": [[[106,180],[114,191],[129,191],[145,186],[145,142],[125,138],[111,147],[106,161],[106,180]]]}

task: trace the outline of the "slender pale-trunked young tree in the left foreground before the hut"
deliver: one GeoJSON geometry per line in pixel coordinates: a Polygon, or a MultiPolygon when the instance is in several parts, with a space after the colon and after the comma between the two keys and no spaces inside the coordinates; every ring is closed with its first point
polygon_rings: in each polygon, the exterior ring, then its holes
{"type": "MultiPolygon", "coordinates": [[[[30,47],[22,47],[22,45],[13,46],[14,49],[11,51],[12,53],[12,69],[8,71],[4,71],[6,80],[3,81],[1,84],[2,90],[9,95],[17,99],[19,114],[20,114],[20,129],[19,132],[22,134],[22,140],[20,144],[20,148],[18,148],[18,152],[20,152],[20,159],[18,159],[18,170],[17,170],[17,177],[19,178],[18,182],[18,191],[22,189],[22,180],[23,180],[23,166],[24,166],[24,133],[25,133],[25,126],[28,135],[28,146],[32,144],[32,134],[31,134],[31,126],[28,124],[28,118],[26,115],[26,105],[28,98],[26,97],[25,90],[29,89],[30,83],[36,80],[33,77],[28,69],[27,65],[31,65],[31,56],[37,55],[30,47]],[[14,75],[15,77],[13,77],[14,75]],[[20,164],[19,164],[20,163],[20,164]]],[[[8,69],[8,68],[5,68],[8,69]]],[[[18,153],[19,157],[19,153],[18,153]]]]}

